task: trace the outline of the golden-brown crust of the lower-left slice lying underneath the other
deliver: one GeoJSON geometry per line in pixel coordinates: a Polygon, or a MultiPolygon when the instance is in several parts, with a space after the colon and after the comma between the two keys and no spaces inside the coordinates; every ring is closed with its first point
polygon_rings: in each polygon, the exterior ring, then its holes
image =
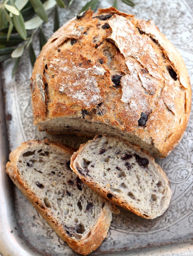
{"type": "MultiPolygon", "coordinates": [[[[57,233],[61,239],[66,241],[68,245],[77,253],[82,255],[87,255],[92,251],[96,250],[97,247],[101,244],[104,238],[107,237],[108,229],[111,222],[111,206],[106,204],[101,211],[101,215],[98,218],[96,225],[91,230],[89,236],[86,239],[74,240],[64,230],[61,223],[58,223],[49,212],[48,208],[45,208],[41,203],[39,198],[37,198],[31,189],[28,187],[28,184],[23,182],[20,177],[19,170],[17,169],[17,161],[20,154],[29,147],[29,143],[42,143],[42,141],[28,141],[22,143],[21,146],[16,148],[10,153],[10,161],[6,164],[6,171],[9,174],[10,178],[14,184],[21,190],[21,192],[26,196],[26,198],[32,203],[32,205],[37,209],[37,211],[43,216],[43,218],[48,222],[52,229],[57,233]]],[[[70,152],[71,154],[74,151],[71,151],[67,147],[61,145],[60,143],[50,142],[48,139],[44,139],[43,143],[49,143],[52,147],[59,147],[64,152],[70,152]]]]}

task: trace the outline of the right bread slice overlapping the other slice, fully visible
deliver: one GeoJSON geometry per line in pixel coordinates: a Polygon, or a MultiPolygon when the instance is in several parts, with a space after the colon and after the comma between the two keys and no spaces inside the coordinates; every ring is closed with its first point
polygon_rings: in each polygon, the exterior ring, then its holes
{"type": "Polygon", "coordinates": [[[104,198],[144,218],[158,217],[169,205],[171,190],[161,167],[120,138],[95,136],[72,155],[70,167],[104,198]]]}

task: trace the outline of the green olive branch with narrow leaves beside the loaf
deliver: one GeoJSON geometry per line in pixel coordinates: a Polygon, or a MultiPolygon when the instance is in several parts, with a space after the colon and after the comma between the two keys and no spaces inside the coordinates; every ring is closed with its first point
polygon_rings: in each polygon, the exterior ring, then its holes
{"type": "MultiPolygon", "coordinates": [[[[100,0],[89,1],[81,10],[91,7],[95,11],[100,0]]],[[[101,0],[102,1],[102,0],[101,0]]],[[[127,5],[134,6],[131,0],[121,0],[127,5]]],[[[74,0],[64,3],[63,0],[0,0],[0,63],[15,59],[12,77],[18,70],[20,57],[29,48],[32,66],[36,56],[32,46],[33,36],[38,33],[40,50],[47,42],[42,31],[42,25],[48,21],[48,10],[54,8],[53,32],[60,27],[58,8],[69,8],[74,0]]],[[[113,7],[117,8],[117,0],[113,7]]]]}

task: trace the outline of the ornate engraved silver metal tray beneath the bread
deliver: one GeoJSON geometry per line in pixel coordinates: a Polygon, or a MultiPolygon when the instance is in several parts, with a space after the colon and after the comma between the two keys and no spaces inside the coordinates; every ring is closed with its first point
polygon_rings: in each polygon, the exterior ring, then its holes
{"type": "MultiPolygon", "coordinates": [[[[117,2],[120,11],[135,14],[139,19],[154,20],[183,56],[193,82],[193,0],[134,0],[135,7],[129,7],[120,0],[117,2]]],[[[110,7],[112,3],[110,0],[100,1],[99,7],[110,7]]],[[[85,1],[74,1],[70,9],[61,10],[61,24],[74,17],[85,4],[85,1]]],[[[52,34],[52,27],[53,17],[50,17],[43,27],[47,38],[52,34]]],[[[33,46],[37,56],[37,38],[33,46]]],[[[14,79],[10,75],[12,66],[13,63],[7,61],[0,73],[0,255],[77,255],[39,216],[5,173],[9,150],[22,141],[45,135],[32,124],[29,89],[32,67],[28,53],[22,57],[14,79]]],[[[113,215],[108,237],[92,255],[193,255],[192,125],[191,112],[180,144],[168,157],[157,159],[171,182],[173,194],[168,210],[155,220],[121,210],[120,214],[113,215]]],[[[51,138],[73,146],[82,142],[76,136],[51,138]]]]}

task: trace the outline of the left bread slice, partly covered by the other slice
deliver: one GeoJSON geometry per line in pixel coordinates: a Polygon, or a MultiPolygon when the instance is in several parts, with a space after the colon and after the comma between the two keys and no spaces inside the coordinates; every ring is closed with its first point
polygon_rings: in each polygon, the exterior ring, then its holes
{"type": "Polygon", "coordinates": [[[47,139],[25,142],[10,153],[6,171],[55,232],[87,255],[107,236],[111,204],[70,169],[72,153],[47,139]]]}

